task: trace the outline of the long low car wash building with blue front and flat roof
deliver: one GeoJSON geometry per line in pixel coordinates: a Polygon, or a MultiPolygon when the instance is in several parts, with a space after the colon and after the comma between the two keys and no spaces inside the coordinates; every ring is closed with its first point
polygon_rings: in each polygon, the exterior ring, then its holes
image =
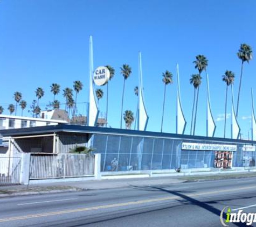
{"type": "Polygon", "coordinates": [[[5,154],[68,153],[75,146],[101,154],[101,172],[255,166],[256,142],[81,125],[1,130],[5,154]]]}

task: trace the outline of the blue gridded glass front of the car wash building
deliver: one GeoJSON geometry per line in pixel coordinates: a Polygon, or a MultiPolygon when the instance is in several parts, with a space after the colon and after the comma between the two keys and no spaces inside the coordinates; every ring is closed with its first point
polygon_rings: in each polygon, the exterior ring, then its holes
{"type": "Polygon", "coordinates": [[[142,171],[154,169],[214,168],[216,151],[182,150],[182,143],[237,145],[232,167],[255,166],[256,152],[243,144],[212,140],[189,140],[138,136],[93,135],[95,153],[101,153],[101,171],[142,171]]]}

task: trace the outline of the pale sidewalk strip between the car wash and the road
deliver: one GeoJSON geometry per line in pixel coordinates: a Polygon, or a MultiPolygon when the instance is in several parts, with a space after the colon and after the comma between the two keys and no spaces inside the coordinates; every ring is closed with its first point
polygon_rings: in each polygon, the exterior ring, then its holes
{"type": "Polygon", "coordinates": [[[20,195],[60,193],[67,191],[82,190],[103,190],[114,188],[145,187],[171,185],[183,182],[196,182],[206,180],[221,180],[234,178],[256,177],[256,173],[232,173],[222,175],[198,175],[198,176],[160,176],[156,178],[136,178],[136,179],[113,179],[113,180],[86,180],[58,183],[40,183],[25,185],[0,186],[0,198],[20,195]]]}

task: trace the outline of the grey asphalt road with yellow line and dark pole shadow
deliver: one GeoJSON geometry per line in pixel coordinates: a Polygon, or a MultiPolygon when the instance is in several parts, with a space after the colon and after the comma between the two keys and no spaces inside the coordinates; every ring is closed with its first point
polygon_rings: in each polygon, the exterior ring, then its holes
{"type": "Polygon", "coordinates": [[[256,178],[1,198],[0,226],[222,226],[226,206],[256,212],[256,178]]]}

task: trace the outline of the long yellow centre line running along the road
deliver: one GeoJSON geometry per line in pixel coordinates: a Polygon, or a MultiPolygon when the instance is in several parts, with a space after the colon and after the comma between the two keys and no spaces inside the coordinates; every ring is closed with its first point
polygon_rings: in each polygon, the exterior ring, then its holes
{"type": "MultiPolygon", "coordinates": [[[[219,194],[219,193],[238,191],[238,190],[246,190],[246,189],[252,189],[252,188],[256,188],[256,186],[239,187],[239,188],[223,189],[223,190],[215,190],[215,191],[207,191],[207,192],[204,192],[204,193],[189,193],[189,194],[184,194],[184,195],[185,196],[202,196],[202,195],[219,194]]],[[[150,200],[140,200],[140,201],[116,203],[116,204],[109,204],[109,205],[99,205],[97,207],[78,208],[78,209],[72,209],[72,210],[61,210],[61,211],[47,212],[47,213],[34,214],[34,215],[9,217],[9,218],[0,219],[0,222],[10,222],[10,221],[18,221],[18,220],[29,219],[29,218],[37,218],[37,217],[46,217],[46,216],[53,216],[53,215],[70,214],[70,213],[74,213],[74,212],[82,212],[82,211],[91,211],[91,210],[99,210],[99,209],[107,209],[107,208],[124,207],[124,206],[127,206],[127,205],[136,205],[136,204],[143,204],[143,203],[151,203],[151,202],[160,202],[160,201],[174,200],[174,199],[177,199],[177,198],[181,198],[181,196],[168,196],[168,197],[162,197],[162,198],[152,198],[150,200]]]]}

